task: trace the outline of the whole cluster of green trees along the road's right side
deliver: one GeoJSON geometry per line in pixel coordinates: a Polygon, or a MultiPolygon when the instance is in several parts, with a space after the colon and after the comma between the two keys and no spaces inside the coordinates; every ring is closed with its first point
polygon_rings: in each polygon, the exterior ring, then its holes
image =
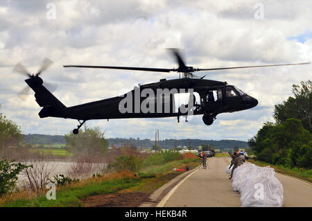
{"type": "Polygon", "coordinates": [[[264,123],[248,141],[257,159],[288,168],[312,167],[311,104],[311,80],[293,85],[293,96],[275,105],[275,123],[264,123]]]}

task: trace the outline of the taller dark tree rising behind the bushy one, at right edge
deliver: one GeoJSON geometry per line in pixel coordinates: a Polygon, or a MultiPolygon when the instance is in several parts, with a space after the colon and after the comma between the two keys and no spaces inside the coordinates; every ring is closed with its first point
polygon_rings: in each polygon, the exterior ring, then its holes
{"type": "Polygon", "coordinates": [[[277,124],[284,123],[288,118],[297,118],[302,121],[302,126],[312,132],[312,82],[302,81],[300,85],[293,85],[293,97],[275,105],[273,117],[277,124]]]}

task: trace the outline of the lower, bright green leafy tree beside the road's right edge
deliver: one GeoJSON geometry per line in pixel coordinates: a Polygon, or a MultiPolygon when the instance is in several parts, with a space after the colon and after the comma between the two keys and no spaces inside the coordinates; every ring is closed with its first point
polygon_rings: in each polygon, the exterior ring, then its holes
{"type": "Polygon", "coordinates": [[[312,166],[312,134],[296,118],[280,124],[265,123],[248,144],[261,161],[291,168],[312,166]]]}

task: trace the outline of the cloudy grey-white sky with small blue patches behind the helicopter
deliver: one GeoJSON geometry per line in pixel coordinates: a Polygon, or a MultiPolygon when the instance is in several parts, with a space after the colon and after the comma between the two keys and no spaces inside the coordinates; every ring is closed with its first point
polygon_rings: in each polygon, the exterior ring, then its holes
{"type": "MultiPolygon", "coordinates": [[[[138,83],[174,79],[177,73],[64,69],[63,64],[175,68],[165,48],[181,48],[190,66],[232,67],[312,60],[312,1],[0,1],[1,112],[24,133],[67,134],[71,119],[43,118],[33,92],[17,94],[25,78],[12,73],[22,62],[31,73],[44,58],[53,66],[42,74],[58,85],[53,93],[67,107],[110,98],[138,83]]],[[[87,121],[106,137],[153,139],[248,140],[274,105],[291,96],[291,85],[311,80],[311,64],[202,72],[206,79],[227,81],[259,100],[253,109],[220,114],[213,125],[194,116],[87,121]]]]}

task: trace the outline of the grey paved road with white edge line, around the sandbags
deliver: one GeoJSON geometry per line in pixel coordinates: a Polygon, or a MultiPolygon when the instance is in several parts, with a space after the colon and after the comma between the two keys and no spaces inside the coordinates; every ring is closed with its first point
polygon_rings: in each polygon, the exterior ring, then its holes
{"type": "MultiPolygon", "coordinates": [[[[161,206],[241,206],[241,195],[234,192],[225,173],[229,157],[209,158],[210,169],[195,170],[164,197],[161,206]],[[172,194],[171,194],[172,193],[172,194]]],[[[312,185],[276,174],[283,184],[284,206],[312,206],[312,185]]]]}

